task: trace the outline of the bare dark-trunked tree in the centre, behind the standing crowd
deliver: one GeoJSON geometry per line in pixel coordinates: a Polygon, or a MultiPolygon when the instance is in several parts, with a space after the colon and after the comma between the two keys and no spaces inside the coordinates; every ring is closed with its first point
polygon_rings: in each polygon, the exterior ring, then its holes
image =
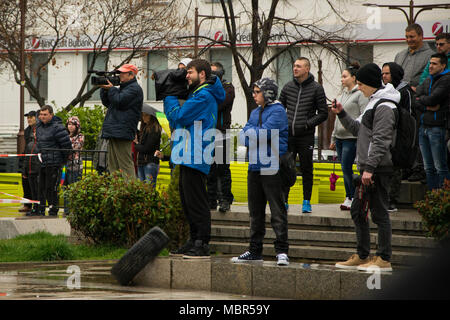
{"type": "MultiPolygon", "coordinates": [[[[298,3],[290,4],[289,1],[283,2],[287,8],[291,7],[290,12],[299,12],[298,3]]],[[[234,65],[239,76],[242,89],[247,101],[247,118],[250,112],[256,107],[251,93],[251,85],[259,80],[264,71],[281,54],[291,48],[301,44],[302,49],[307,49],[310,54],[315,55],[314,48],[330,53],[337,60],[345,61],[346,53],[342,51],[341,46],[336,43],[345,43],[349,40],[344,34],[350,29],[350,22],[346,21],[340,12],[333,7],[330,1],[326,1],[329,6],[328,14],[317,19],[304,19],[302,11],[293,17],[284,18],[277,14],[279,9],[279,0],[272,0],[270,8],[263,11],[259,0],[243,1],[240,0],[238,12],[235,11],[235,5],[231,0],[220,0],[227,37],[222,40],[212,39],[207,36],[199,36],[209,43],[200,52],[203,53],[215,44],[221,44],[231,50],[234,65]],[[339,21],[339,27],[326,29],[323,27],[325,21],[333,15],[335,20],[339,21]],[[239,17],[239,18],[238,18],[239,17]],[[245,23],[248,21],[248,25],[245,23]],[[238,49],[237,35],[239,30],[250,29],[251,47],[249,50],[238,49]],[[278,50],[270,50],[269,43],[285,42],[285,46],[278,47],[278,50]],[[246,77],[246,72],[250,78],[246,77]]],[[[309,10],[311,8],[308,8],[309,10]]],[[[300,9],[301,10],[301,9],[300,9]]],[[[188,38],[192,36],[187,36],[188,38]]]]}

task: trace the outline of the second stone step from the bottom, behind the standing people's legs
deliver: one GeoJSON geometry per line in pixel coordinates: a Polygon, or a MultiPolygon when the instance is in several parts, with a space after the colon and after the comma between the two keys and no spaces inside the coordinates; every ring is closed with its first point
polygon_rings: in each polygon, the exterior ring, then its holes
{"type": "MultiPolygon", "coordinates": [[[[272,243],[275,240],[275,232],[271,227],[266,228],[266,240],[272,243]]],[[[378,241],[378,234],[371,233],[370,241],[376,244],[378,241]]],[[[250,228],[245,226],[221,226],[213,225],[211,227],[211,239],[214,241],[225,242],[249,242],[250,228]]],[[[310,245],[323,247],[356,247],[355,232],[344,231],[321,231],[321,230],[296,230],[290,229],[288,234],[290,245],[310,245]]],[[[436,242],[432,238],[421,236],[405,236],[393,235],[392,248],[393,250],[402,250],[417,252],[422,249],[435,248],[436,242]]]]}

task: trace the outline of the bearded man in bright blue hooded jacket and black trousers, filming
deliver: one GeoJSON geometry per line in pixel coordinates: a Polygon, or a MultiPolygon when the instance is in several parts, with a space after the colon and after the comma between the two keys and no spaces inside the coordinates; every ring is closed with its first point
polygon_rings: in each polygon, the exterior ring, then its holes
{"type": "Polygon", "coordinates": [[[206,178],[213,161],[217,106],[225,100],[225,90],[220,79],[211,76],[206,60],[192,60],[186,79],[191,93],[182,106],[176,96],[164,98],[164,113],[174,128],[171,161],[180,165],[180,198],[190,228],[190,239],[172,255],[209,258],[211,212],[206,178]]]}

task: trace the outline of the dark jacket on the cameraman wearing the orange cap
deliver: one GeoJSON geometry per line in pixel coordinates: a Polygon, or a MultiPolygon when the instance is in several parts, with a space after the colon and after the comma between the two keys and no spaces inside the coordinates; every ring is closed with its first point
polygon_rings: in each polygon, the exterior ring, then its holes
{"type": "Polygon", "coordinates": [[[108,108],[102,127],[103,139],[133,141],[141,118],[144,94],[136,78],[121,83],[120,88],[100,89],[100,97],[108,108]]]}

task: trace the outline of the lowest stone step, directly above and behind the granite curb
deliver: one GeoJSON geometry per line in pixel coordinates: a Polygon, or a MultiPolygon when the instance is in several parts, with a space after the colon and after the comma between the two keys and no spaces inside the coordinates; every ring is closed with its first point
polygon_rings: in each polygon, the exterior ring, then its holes
{"type": "MultiPolygon", "coordinates": [[[[248,243],[211,241],[210,249],[212,252],[220,254],[239,255],[248,250],[248,243]]],[[[355,252],[355,248],[289,245],[290,259],[308,262],[334,264],[338,261],[346,261],[355,252]]],[[[372,250],[371,254],[375,254],[375,250],[372,250]]],[[[265,244],[263,255],[269,259],[275,257],[275,250],[272,243],[265,244]]],[[[428,254],[392,251],[391,262],[394,266],[412,266],[417,264],[419,259],[423,258],[424,255],[428,254]]]]}

